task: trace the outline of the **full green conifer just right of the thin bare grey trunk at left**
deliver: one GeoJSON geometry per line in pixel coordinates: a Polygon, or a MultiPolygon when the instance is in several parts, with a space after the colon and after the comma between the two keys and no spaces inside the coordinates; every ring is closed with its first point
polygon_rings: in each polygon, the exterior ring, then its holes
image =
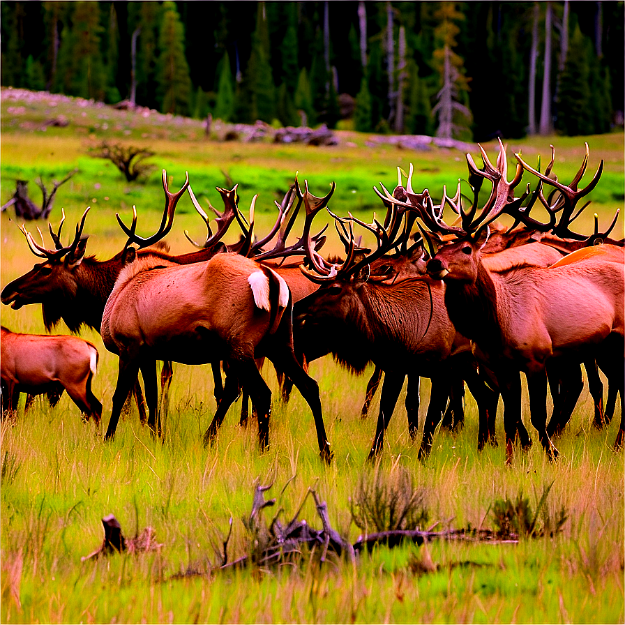
{"type": "Polygon", "coordinates": [[[174,2],[163,3],[158,50],[156,76],[160,110],[164,113],[187,114],[191,80],[184,55],[184,29],[174,2]]]}

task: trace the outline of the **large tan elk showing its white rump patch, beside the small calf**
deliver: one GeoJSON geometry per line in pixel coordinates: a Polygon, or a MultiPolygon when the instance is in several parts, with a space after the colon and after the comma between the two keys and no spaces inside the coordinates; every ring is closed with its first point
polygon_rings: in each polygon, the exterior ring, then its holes
{"type": "MultiPolygon", "coordinates": [[[[302,239],[312,246],[310,223],[329,201],[307,204],[302,239]]],[[[167,222],[173,220],[175,204],[167,222]]],[[[120,225],[129,241],[145,245],[164,236],[162,229],[149,239],[135,234],[136,212],[130,228],[120,225]]],[[[163,216],[165,223],[165,216],[163,216]]],[[[271,391],[255,359],[266,356],[289,377],[308,402],[317,429],[319,455],[331,459],[323,423],[319,387],[303,370],[293,351],[292,296],[285,279],[268,266],[237,253],[222,253],[206,262],[174,264],[163,258],[137,259],[120,273],[106,303],[101,334],[105,347],[119,355],[119,375],[106,438],[119,421],[125,393],[141,369],[148,405],[156,403],[156,386],[146,368],[156,359],[188,364],[227,361],[223,399],[204,435],[215,437],[225,413],[245,379],[258,415],[261,449],[269,444],[271,391]],[[166,299],[164,295],[167,294],[166,299]]],[[[150,412],[152,412],[150,410],[150,412]]]]}

